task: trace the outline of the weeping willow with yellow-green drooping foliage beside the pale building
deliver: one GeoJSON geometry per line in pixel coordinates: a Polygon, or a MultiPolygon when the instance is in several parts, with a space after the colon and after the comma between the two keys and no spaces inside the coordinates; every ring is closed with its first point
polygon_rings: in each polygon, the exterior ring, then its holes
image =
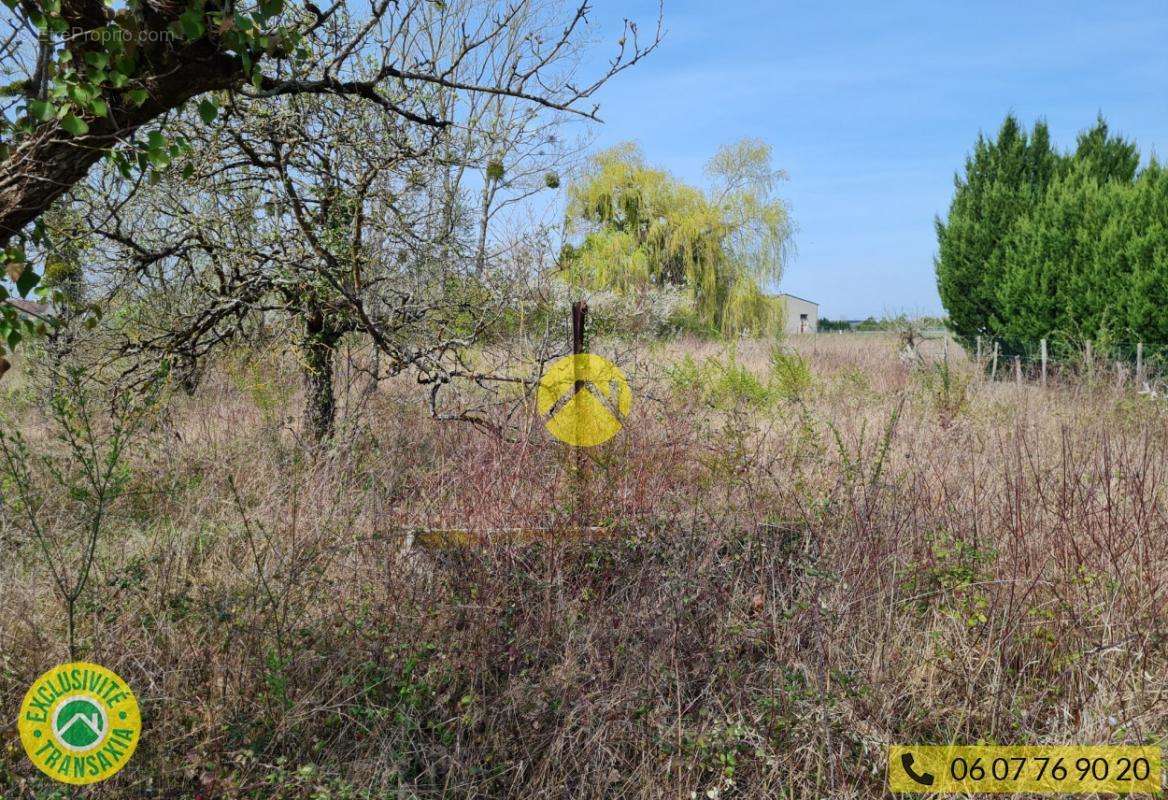
{"type": "Polygon", "coordinates": [[[791,220],[774,188],[771,148],[744,139],[705,168],[710,188],[649,167],[634,144],[596,155],[569,188],[564,266],[577,285],[638,292],[682,286],[698,325],[723,334],[781,328],[778,281],[791,220]]]}

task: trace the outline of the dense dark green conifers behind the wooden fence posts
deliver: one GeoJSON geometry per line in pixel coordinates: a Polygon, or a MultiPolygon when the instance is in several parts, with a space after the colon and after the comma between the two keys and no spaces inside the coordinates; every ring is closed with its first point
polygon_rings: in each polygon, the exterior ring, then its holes
{"type": "Polygon", "coordinates": [[[938,290],[966,342],[1168,342],[1168,174],[1101,117],[1069,153],[1045,123],[1007,117],[936,224],[938,290]]]}

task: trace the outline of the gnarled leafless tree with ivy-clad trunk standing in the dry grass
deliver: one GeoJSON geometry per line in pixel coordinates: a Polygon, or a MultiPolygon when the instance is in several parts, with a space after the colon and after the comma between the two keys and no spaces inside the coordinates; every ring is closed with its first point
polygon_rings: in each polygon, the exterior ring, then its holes
{"type": "MultiPolygon", "coordinates": [[[[516,43],[542,36],[548,19],[512,25],[507,49],[460,69],[512,69],[516,43]]],[[[437,36],[427,49],[461,47],[458,37],[443,44],[437,23],[426,30],[437,36]]],[[[566,83],[561,62],[571,56],[544,69],[566,83]]],[[[564,151],[550,132],[561,114],[447,88],[424,102],[454,125],[434,132],[343,97],[228,96],[218,127],[172,125],[192,146],[189,182],[172,173],[118,193],[106,174],[89,194],[114,285],[134,309],[121,352],[166,355],[193,376],[209,349],[281,316],[294,325],[314,441],[333,429],[336,350],[349,334],[383,356],[375,377],[411,369],[434,396],[453,377],[503,380],[463,360],[514,305],[521,277],[487,269],[503,252],[488,259],[487,227],[499,208],[554,188],[547,175],[564,151]],[[492,178],[496,162],[513,165],[513,176],[492,178]]]]}

